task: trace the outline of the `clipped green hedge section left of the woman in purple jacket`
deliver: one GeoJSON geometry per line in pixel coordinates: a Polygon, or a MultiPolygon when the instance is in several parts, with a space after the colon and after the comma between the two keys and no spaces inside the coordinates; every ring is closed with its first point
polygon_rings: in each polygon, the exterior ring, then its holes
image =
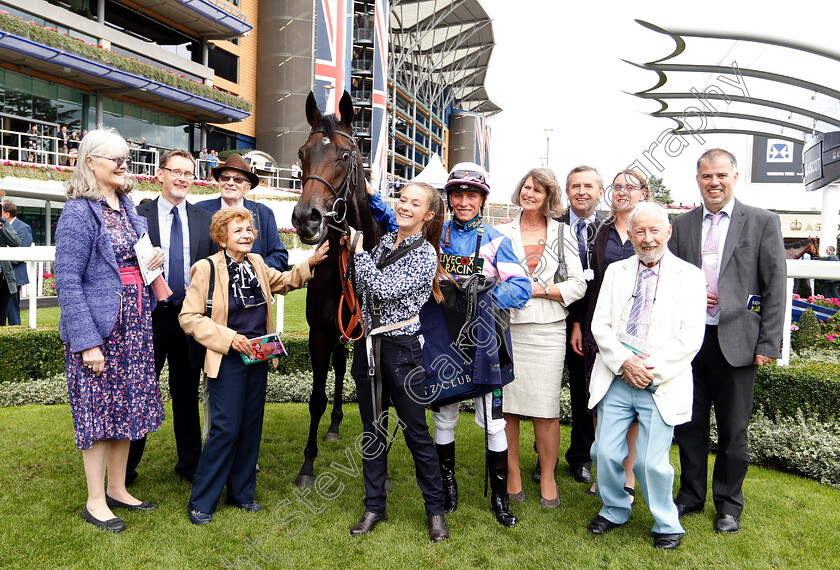
{"type": "Polygon", "coordinates": [[[49,378],[64,370],[57,327],[0,327],[0,380],[49,378]]]}

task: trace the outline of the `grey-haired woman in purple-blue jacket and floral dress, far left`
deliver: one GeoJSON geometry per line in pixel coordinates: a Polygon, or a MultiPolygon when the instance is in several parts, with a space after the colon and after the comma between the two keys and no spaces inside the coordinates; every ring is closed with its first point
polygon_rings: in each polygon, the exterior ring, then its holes
{"type": "MultiPolygon", "coordinates": [[[[82,518],[112,532],[125,530],[125,521],[111,509],[157,507],[128,493],[125,466],[129,441],[163,421],[152,348],[156,299],[143,285],[134,252],[147,228],[127,195],[135,182],[130,164],[128,145],[116,131],[89,132],[79,145],[55,234],[58,327],[87,479],[82,518]]],[[[148,266],[163,261],[156,249],[148,266]]]]}

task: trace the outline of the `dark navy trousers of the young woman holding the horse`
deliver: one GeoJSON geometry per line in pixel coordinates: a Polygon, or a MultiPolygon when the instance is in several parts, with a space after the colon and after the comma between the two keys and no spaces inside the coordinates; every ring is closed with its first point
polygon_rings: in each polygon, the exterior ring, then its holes
{"type": "MultiPolygon", "coordinates": [[[[443,514],[443,487],[437,451],[426,423],[426,408],[410,395],[425,394],[426,376],[422,365],[423,350],[416,336],[399,339],[382,337],[379,362],[383,382],[382,409],[388,409],[389,399],[393,402],[406,445],[414,458],[414,472],[423,494],[426,516],[431,517],[443,514]]],[[[388,472],[388,454],[385,452],[388,447],[388,418],[383,414],[383,421],[374,423],[375,411],[367,368],[365,342],[360,340],[353,348],[350,372],[356,381],[362,426],[365,434],[370,434],[365,437],[366,452],[362,458],[365,510],[381,513],[385,510],[385,477],[388,472]]]]}

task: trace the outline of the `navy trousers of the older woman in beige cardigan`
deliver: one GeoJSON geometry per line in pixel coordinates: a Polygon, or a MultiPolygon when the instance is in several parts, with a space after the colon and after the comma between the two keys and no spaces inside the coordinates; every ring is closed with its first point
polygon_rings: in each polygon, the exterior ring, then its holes
{"type": "Polygon", "coordinates": [[[195,472],[189,508],[213,513],[227,486],[232,503],[254,502],[268,363],[246,365],[239,353],[222,358],[208,378],[213,423],[195,472]]]}

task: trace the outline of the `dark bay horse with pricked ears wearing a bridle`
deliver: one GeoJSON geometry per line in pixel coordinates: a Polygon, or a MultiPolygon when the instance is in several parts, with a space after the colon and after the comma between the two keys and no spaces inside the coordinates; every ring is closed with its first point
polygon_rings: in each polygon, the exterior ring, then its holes
{"type": "MultiPolygon", "coordinates": [[[[361,153],[353,137],[353,100],[347,91],[339,101],[339,113],[340,118],[322,115],[310,92],[306,99],[306,120],[311,130],[298,151],[303,169],[302,192],[292,213],[292,225],[303,243],[316,245],[327,240],[330,244],[329,255],[315,270],[306,294],[312,396],[303,466],[295,478],[298,487],[309,487],[315,481],[318,425],[327,408],[326,382],[330,362],[335,371],[335,398],[324,441],[341,439],[339,425],[344,417],[342,392],[347,369],[343,344],[347,338],[342,342],[341,328],[352,315],[341,303],[346,283],[342,280],[340,239],[349,224],[362,232],[364,249],[370,251],[385,233],[368,206],[361,153]]],[[[347,302],[352,304],[354,300],[347,299],[347,302]]]]}

